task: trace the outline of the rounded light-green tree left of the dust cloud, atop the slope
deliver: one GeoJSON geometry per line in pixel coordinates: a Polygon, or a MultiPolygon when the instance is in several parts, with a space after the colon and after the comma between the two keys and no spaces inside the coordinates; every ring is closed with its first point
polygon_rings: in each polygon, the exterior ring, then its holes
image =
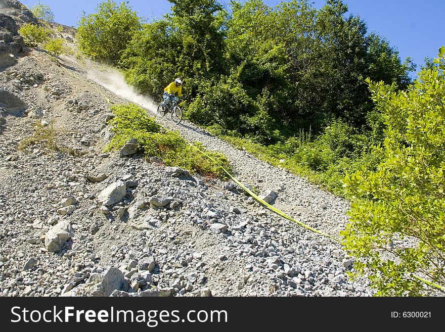
{"type": "Polygon", "coordinates": [[[141,28],[137,12],[127,4],[122,2],[117,6],[107,0],[98,5],[97,13],[88,16],[83,13],[77,36],[86,55],[112,65],[119,63],[127,44],[141,28]]]}

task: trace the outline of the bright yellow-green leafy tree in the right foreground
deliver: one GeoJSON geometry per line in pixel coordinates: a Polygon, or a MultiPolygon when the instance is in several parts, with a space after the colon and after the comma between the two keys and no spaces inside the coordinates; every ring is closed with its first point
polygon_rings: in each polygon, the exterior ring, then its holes
{"type": "Polygon", "coordinates": [[[417,277],[445,286],[444,46],[434,62],[438,66],[424,68],[406,91],[368,80],[386,125],[384,143],[376,147],[385,158],[376,171],[344,179],[357,198],[346,249],[379,295],[422,295],[428,284],[417,277]]]}

